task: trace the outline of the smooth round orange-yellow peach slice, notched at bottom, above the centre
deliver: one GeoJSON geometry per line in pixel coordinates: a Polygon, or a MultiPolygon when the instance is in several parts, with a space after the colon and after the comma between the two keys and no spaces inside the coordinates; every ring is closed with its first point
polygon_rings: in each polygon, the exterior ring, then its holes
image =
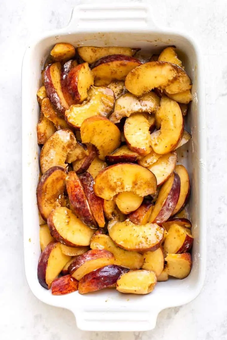
{"type": "Polygon", "coordinates": [[[121,143],[120,131],[109,119],[93,116],[83,121],[80,129],[83,143],[92,143],[96,146],[99,158],[116,150],[121,143]]]}

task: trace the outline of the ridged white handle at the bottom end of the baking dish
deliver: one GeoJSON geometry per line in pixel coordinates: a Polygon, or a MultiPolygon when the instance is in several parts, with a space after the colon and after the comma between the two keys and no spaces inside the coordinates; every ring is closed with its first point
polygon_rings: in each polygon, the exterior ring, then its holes
{"type": "Polygon", "coordinates": [[[155,328],[160,310],[151,312],[129,310],[77,310],[73,311],[77,327],[89,331],[145,331],[155,328]]]}

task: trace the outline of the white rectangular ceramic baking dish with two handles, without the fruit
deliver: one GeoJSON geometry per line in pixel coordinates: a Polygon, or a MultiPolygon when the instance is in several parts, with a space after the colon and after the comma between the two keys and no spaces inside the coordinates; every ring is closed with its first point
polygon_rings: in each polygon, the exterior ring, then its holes
{"type": "MultiPolygon", "coordinates": [[[[141,331],[155,327],[158,313],[165,308],[192,301],[200,292],[206,262],[206,135],[205,96],[201,72],[201,56],[194,41],[185,34],[156,27],[150,8],[145,5],[80,5],[72,14],[69,25],[43,34],[28,47],[22,67],[22,129],[23,129],[23,226],[25,271],[28,284],[41,301],[71,310],[83,330],[141,331]],[[120,294],[114,289],[87,295],[74,292],[53,296],[37,280],[40,255],[36,186],[39,176],[36,124],[39,106],[36,91],[40,70],[51,47],[58,42],[74,46],[127,46],[159,52],[167,45],[181,51],[186,71],[192,81],[193,102],[187,118],[192,141],[187,148],[187,164],[192,194],[189,204],[195,242],[193,268],[184,280],[159,283],[148,295],[120,294]]],[[[182,153],[182,152],[181,152],[182,153]]],[[[185,153],[184,153],[185,155],[185,153]]],[[[181,157],[181,155],[179,155],[181,157]]]]}

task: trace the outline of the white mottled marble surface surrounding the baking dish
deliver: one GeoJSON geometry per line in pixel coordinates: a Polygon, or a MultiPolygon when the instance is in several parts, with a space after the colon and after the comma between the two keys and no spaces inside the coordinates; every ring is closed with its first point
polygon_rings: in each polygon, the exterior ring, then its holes
{"type": "Polygon", "coordinates": [[[93,333],[78,330],[71,312],[45,305],[30,292],[24,274],[22,248],[20,103],[22,56],[29,38],[34,33],[65,26],[72,7],[82,2],[77,0],[0,2],[2,65],[0,98],[3,143],[0,161],[0,339],[227,339],[225,0],[152,1],[153,11],[160,26],[183,28],[188,31],[197,38],[204,54],[208,132],[208,258],[206,282],[201,294],[188,305],[162,311],[157,326],[152,331],[93,333]]]}

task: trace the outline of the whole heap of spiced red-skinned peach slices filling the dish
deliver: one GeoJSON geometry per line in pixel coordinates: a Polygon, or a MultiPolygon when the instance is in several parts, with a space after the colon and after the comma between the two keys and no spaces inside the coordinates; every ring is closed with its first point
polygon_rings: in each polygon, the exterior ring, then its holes
{"type": "Polygon", "coordinates": [[[190,195],[177,149],[191,79],[175,47],[56,44],[37,92],[41,177],[38,280],[52,294],[146,294],[192,267],[190,195]]]}

